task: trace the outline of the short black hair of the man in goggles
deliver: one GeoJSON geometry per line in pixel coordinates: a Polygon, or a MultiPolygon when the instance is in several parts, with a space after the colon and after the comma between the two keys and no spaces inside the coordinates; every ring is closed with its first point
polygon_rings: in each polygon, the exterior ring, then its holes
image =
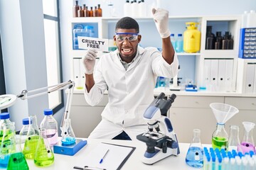
{"type": "Polygon", "coordinates": [[[119,19],[119,21],[117,21],[116,24],[116,28],[117,29],[135,29],[137,31],[137,33],[139,33],[139,24],[137,23],[137,21],[134,20],[134,18],[131,17],[124,17],[119,19]]]}

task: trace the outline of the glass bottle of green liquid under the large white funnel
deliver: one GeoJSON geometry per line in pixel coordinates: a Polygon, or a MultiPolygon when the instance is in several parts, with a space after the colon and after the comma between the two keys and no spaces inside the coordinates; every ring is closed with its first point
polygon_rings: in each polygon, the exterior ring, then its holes
{"type": "Polygon", "coordinates": [[[225,149],[228,147],[228,133],[225,131],[225,124],[217,123],[217,128],[212,135],[213,149],[225,149]]]}

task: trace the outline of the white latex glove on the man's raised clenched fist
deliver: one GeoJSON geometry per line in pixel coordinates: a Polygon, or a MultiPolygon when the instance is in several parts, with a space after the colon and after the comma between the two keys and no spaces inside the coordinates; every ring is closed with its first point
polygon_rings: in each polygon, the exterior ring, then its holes
{"type": "Polygon", "coordinates": [[[159,31],[161,38],[168,38],[171,35],[169,30],[169,11],[162,8],[152,8],[154,22],[156,23],[156,28],[159,31]]]}

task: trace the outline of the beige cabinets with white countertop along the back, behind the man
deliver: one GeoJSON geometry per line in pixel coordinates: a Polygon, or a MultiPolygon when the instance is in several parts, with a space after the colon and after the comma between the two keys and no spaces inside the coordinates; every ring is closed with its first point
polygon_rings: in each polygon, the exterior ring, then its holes
{"type": "MultiPolygon", "coordinates": [[[[240,139],[243,135],[242,121],[256,120],[256,96],[245,96],[240,93],[213,93],[207,91],[161,91],[156,89],[154,95],[158,96],[164,92],[166,96],[176,94],[167,113],[174,126],[179,142],[191,142],[192,130],[201,130],[201,142],[210,144],[211,135],[216,128],[216,120],[210,108],[210,103],[227,103],[238,108],[239,113],[230,118],[225,124],[229,134],[230,125],[240,126],[240,139]]],[[[75,90],[70,110],[70,118],[73,130],[77,137],[88,137],[90,132],[100,123],[101,113],[108,102],[107,93],[97,106],[90,106],[86,103],[83,90],[75,90]]],[[[253,131],[256,136],[256,130],[253,131]]]]}

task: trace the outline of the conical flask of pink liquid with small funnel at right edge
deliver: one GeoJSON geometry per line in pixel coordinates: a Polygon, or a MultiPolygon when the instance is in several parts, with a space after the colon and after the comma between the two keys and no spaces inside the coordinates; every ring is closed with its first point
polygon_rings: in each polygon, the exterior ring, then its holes
{"type": "Polygon", "coordinates": [[[242,122],[245,128],[245,134],[242,137],[241,152],[243,154],[249,153],[250,151],[255,152],[255,143],[252,137],[252,130],[255,127],[255,123],[242,122]]]}

